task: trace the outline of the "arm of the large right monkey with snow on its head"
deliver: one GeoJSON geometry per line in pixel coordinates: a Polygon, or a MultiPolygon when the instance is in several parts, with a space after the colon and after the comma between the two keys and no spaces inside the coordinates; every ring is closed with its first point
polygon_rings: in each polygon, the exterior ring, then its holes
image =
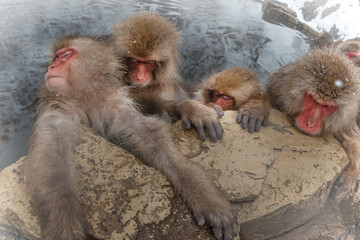
{"type": "Polygon", "coordinates": [[[349,158],[349,164],[333,186],[335,197],[342,199],[354,187],[360,172],[360,129],[356,127],[351,133],[342,132],[335,137],[341,143],[349,158]]]}

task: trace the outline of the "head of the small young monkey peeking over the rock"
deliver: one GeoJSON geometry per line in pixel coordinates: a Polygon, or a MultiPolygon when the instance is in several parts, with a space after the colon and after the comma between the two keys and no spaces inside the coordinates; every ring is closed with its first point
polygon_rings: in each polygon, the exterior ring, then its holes
{"type": "Polygon", "coordinates": [[[232,67],[205,80],[202,95],[205,102],[213,102],[223,111],[235,110],[258,91],[259,85],[253,70],[232,67]]]}

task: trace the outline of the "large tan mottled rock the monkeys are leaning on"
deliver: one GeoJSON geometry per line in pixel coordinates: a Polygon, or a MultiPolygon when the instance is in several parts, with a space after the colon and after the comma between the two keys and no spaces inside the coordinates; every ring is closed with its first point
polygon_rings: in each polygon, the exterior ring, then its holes
{"type": "MultiPolygon", "coordinates": [[[[303,225],[320,212],[347,164],[332,137],[309,137],[272,110],[269,126],[249,134],[221,119],[224,139],[198,139],[178,122],[174,140],[234,203],[241,239],[268,239],[303,225]]],[[[75,159],[83,212],[101,239],[213,239],[157,170],[82,128],[75,159]]],[[[0,239],[37,239],[40,229],[24,185],[22,161],[0,173],[0,239]]],[[[296,232],[296,230],[294,230],[296,232]]],[[[284,238],[281,239],[296,239],[284,238]]],[[[293,237],[293,236],[292,236],[293,237]]],[[[300,238],[299,238],[300,239],[300,238]]]]}

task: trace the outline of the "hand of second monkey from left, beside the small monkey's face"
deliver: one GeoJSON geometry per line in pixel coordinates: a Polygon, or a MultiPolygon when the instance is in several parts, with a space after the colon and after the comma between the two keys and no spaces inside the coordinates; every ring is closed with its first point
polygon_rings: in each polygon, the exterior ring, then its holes
{"type": "Polygon", "coordinates": [[[185,128],[190,129],[194,125],[200,139],[205,139],[204,127],[208,130],[212,141],[222,139],[224,129],[214,109],[196,100],[188,99],[179,103],[178,111],[185,123],[185,128]]]}

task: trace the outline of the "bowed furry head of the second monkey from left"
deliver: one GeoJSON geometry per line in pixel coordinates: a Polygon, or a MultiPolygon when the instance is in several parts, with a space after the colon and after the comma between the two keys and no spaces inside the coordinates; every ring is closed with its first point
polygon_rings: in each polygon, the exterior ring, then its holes
{"type": "Polygon", "coordinates": [[[143,13],[114,26],[116,53],[128,67],[128,85],[145,87],[173,78],[180,33],[164,17],[143,13]]]}

